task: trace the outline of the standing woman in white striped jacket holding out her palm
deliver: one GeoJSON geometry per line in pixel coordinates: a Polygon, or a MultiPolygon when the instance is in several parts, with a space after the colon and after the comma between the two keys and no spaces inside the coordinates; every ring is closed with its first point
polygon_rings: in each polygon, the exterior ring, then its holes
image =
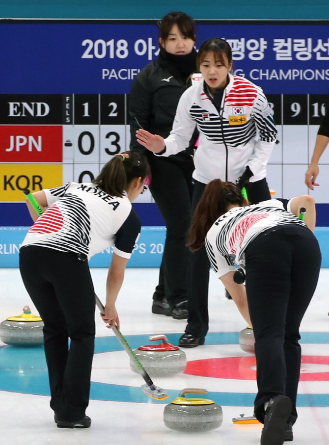
{"type": "MultiPolygon", "coordinates": [[[[273,113],[262,89],[230,74],[232,52],[218,38],[200,46],[197,67],[203,75],[179,101],[167,138],[138,130],[137,140],[157,156],[179,153],[197,126],[200,132],[194,155],[195,180],[192,211],[210,181],[220,178],[247,187],[251,204],[270,199],[266,165],[276,140],[273,113]]],[[[181,347],[204,344],[208,331],[210,263],[204,248],[191,254],[188,271],[189,318],[181,347]]]]}

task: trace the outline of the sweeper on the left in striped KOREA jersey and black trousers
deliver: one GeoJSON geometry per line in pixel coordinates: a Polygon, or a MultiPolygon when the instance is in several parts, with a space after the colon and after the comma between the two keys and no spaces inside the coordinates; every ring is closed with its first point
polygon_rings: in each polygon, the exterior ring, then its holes
{"type": "Polygon", "coordinates": [[[114,156],[92,183],[67,183],[33,193],[44,212],[20,250],[21,275],[44,322],[51,389],[59,428],[88,428],[90,373],[95,339],[95,292],[88,259],[113,246],[105,314],[120,327],[115,300],[140,233],[131,202],[142,192],[150,168],[137,152],[114,156]],[[68,339],[70,338],[70,347],[68,339]]]}

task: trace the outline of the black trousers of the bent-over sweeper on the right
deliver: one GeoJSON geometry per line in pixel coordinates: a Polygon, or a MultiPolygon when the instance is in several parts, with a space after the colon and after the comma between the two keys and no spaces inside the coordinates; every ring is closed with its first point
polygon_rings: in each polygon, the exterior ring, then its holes
{"type": "Polygon", "coordinates": [[[310,230],[289,224],[257,236],[245,255],[257,360],[255,415],[264,423],[264,403],[286,395],[293,406],[288,422],[294,423],[301,367],[299,327],[318,281],[319,244],[310,230]]]}

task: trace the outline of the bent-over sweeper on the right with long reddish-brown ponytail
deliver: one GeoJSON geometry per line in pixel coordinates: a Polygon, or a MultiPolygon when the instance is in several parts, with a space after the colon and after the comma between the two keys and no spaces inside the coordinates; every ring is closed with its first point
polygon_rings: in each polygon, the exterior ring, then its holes
{"type": "Polygon", "coordinates": [[[312,196],[247,206],[236,185],[218,179],[207,185],[190,229],[190,248],[197,251],[205,244],[215,273],[247,322],[250,315],[258,385],[254,412],[264,423],[261,445],[293,440],[299,327],[321,265],[314,227],[312,196]],[[301,207],[304,222],[297,217],[301,207]],[[234,280],[234,262],[246,272],[246,287],[234,280]]]}

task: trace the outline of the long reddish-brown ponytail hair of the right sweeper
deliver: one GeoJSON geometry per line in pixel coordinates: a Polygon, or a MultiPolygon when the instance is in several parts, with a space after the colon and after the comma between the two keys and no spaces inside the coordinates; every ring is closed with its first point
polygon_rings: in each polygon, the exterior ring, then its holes
{"type": "Polygon", "coordinates": [[[244,203],[241,190],[236,185],[224,183],[220,179],[211,181],[194,212],[187,243],[192,252],[201,249],[209,229],[230,205],[242,207],[244,203]]]}

